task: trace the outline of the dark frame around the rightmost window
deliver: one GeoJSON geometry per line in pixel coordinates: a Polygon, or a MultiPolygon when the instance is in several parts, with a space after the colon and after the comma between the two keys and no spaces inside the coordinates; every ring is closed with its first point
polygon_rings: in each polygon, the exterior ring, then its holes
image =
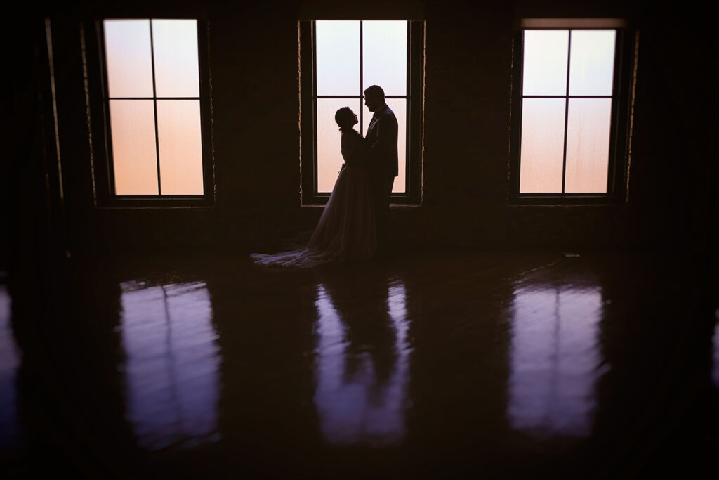
{"type": "MultiPolygon", "coordinates": [[[[623,204],[627,198],[628,168],[631,158],[631,110],[636,81],[636,28],[620,19],[533,19],[518,22],[513,37],[512,94],[510,122],[510,171],[508,201],[510,205],[531,204],[623,204]],[[544,20],[544,21],[543,21],[544,20]],[[610,124],[607,192],[594,193],[519,193],[521,127],[523,100],[524,32],[526,30],[615,30],[614,77],[610,124]]],[[[567,58],[569,65],[569,58],[567,58]]],[[[572,98],[569,91],[561,98],[572,98]]],[[[582,97],[582,96],[577,96],[582,97]]],[[[564,158],[567,162],[567,112],[564,125],[564,158]]],[[[562,180],[564,185],[564,179],[562,180]]]]}

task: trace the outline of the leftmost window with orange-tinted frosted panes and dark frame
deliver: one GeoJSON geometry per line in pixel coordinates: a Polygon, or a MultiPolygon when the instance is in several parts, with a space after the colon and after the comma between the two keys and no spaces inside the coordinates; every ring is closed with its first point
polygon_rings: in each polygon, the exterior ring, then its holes
{"type": "Polygon", "coordinates": [[[196,19],[105,19],[86,30],[96,199],[211,202],[206,28],[196,19]]]}

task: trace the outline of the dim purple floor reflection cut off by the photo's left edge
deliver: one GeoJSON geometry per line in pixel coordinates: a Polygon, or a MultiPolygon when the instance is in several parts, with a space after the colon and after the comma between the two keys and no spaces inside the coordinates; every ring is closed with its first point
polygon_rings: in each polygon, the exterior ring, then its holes
{"type": "Polygon", "coordinates": [[[10,294],[0,285],[0,448],[13,448],[20,440],[17,412],[17,369],[20,355],[10,325],[10,294]]]}

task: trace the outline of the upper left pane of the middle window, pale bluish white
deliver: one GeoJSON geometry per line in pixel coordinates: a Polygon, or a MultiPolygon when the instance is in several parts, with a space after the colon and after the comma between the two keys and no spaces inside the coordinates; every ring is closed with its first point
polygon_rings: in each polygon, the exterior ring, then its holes
{"type": "Polygon", "coordinates": [[[318,20],[315,28],[317,94],[359,95],[359,22],[318,20]]]}

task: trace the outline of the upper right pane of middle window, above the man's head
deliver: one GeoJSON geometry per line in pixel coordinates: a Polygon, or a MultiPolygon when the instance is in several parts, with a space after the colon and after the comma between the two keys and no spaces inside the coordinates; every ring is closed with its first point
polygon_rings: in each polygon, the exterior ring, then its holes
{"type": "Polygon", "coordinates": [[[379,85],[385,95],[407,93],[407,22],[362,22],[362,91],[379,85]]]}

